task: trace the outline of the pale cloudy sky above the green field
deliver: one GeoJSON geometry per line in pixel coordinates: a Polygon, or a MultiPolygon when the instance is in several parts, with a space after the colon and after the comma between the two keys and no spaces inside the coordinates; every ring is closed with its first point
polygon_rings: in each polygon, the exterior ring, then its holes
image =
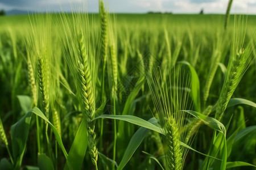
{"type": "MultiPolygon", "coordinates": [[[[72,5],[86,2],[88,12],[98,12],[98,0],[0,0],[0,9],[26,11],[71,11],[72,5]]],[[[229,0],[106,0],[110,12],[145,13],[148,11],[174,14],[225,14],[229,0]]],[[[256,0],[233,0],[233,14],[256,14],[256,0]]]]}

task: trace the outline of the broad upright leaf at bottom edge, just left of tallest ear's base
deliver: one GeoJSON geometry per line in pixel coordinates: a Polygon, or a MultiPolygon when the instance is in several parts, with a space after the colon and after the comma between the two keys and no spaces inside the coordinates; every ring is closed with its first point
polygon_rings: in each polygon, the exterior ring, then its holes
{"type": "Polygon", "coordinates": [[[79,129],[76,132],[76,137],[72,143],[71,149],[68,153],[67,163],[64,169],[81,169],[82,162],[84,162],[84,156],[88,145],[88,137],[86,133],[86,125],[82,120],[79,129]]]}

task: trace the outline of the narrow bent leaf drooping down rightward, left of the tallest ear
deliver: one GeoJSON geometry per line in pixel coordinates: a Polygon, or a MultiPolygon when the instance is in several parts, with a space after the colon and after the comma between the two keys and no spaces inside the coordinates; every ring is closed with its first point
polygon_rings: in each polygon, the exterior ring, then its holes
{"type": "Polygon", "coordinates": [[[56,128],[51,124],[51,122],[49,122],[49,120],[46,118],[46,116],[44,116],[44,114],[40,111],[39,108],[35,107],[29,113],[35,113],[37,116],[43,118],[43,120],[45,120],[49,124],[49,126],[51,127],[51,129],[55,135],[57,142],[60,145],[61,150],[63,151],[65,158],[67,159],[67,157],[68,157],[67,151],[65,150],[65,147],[63,146],[60,134],[57,132],[56,128]]]}

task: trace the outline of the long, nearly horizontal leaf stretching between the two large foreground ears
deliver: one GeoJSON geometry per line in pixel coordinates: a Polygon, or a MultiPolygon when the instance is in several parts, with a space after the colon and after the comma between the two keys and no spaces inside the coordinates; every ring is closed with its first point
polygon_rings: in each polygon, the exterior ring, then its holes
{"type": "Polygon", "coordinates": [[[155,126],[155,125],[151,124],[150,122],[143,120],[142,118],[132,116],[132,115],[102,114],[101,116],[94,118],[94,120],[97,120],[98,118],[111,118],[111,119],[115,119],[115,120],[122,120],[122,121],[130,122],[131,124],[139,125],[144,128],[154,130],[158,133],[164,134],[164,130],[162,128],[159,128],[158,126],[155,126]]]}

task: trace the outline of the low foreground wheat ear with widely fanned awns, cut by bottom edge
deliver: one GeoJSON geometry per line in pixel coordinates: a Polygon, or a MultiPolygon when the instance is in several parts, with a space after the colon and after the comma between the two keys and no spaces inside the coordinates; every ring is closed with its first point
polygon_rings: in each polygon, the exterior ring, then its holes
{"type": "Polygon", "coordinates": [[[156,109],[156,117],[164,130],[164,152],[166,155],[166,169],[183,169],[187,148],[181,145],[184,142],[190,145],[191,140],[186,140],[187,131],[184,130],[186,118],[183,111],[188,104],[189,76],[182,74],[180,68],[175,68],[163,78],[162,71],[153,69],[152,76],[148,79],[152,100],[156,109]]]}

